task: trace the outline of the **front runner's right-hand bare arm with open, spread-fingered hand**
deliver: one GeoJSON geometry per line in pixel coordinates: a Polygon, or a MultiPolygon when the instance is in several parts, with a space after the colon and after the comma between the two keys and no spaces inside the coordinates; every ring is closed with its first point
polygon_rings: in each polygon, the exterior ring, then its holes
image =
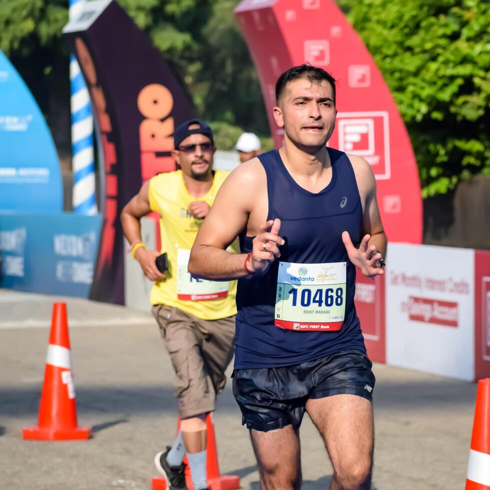
{"type": "Polygon", "coordinates": [[[384,234],[376,200],[376,179],[372,169],[360,156],[348,155],[354,169],[357,187],[362,201],[362,233],[364,234],[358,249],[353,246],[349,234],[344,231],[342,239],[352,262],[366,276],[383,273],[379,259],[386,256],[386,235],[384,234]],[[352,259],[354,250],[359,262],[352,259]],[[376,252],[376,253],[374,253],[376,252]]]}

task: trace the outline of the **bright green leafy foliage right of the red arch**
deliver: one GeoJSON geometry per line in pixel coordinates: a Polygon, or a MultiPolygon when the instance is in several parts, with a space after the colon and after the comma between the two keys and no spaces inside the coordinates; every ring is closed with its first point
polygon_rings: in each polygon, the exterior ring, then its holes
{"type": "Polygon", "coordinates": [[[490,2],[339,0],[408,128],[424,196],[490,174],[490,2]]]}

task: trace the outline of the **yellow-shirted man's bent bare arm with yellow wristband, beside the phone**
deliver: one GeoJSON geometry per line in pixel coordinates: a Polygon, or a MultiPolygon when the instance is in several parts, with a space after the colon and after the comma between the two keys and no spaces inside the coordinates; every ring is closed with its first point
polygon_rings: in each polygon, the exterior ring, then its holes
{"type": "MultiPolygon", "coordinates": [[[[149,180],[147,180],[139,189],[139,192],[122,208],[121,223],[122,231],[124,232],[127,241],[131,246],[141,239],[141,224],[140,219],[151,212],[148,197],[149,180]]],[[[139,262],[144,275],[149,280],[162,279],[162,274],[155,264],[155,258],[160,254],[158,250],[146,250],[140,246],[134,252],[134,258],[139,262]]]]}

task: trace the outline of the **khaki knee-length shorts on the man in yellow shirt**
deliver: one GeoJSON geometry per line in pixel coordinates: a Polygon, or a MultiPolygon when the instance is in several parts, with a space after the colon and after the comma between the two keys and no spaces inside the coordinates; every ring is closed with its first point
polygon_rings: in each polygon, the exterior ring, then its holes
{"type": "Polygon", "coordinates": [[[233,357],[235,317],[201,320],[182,310],[156,304],[151,312],[160,327],[175,371],[175,396],[181,418],[214,410],[233,357]]]}

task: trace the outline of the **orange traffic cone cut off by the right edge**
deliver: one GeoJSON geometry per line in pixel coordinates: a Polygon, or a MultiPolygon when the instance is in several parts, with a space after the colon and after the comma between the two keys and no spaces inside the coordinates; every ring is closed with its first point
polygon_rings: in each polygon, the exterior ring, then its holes
{"type": "Polygon", "coordinates": [[[490,378],[478,381],[466,490],[490,490],[490,378]]]}

